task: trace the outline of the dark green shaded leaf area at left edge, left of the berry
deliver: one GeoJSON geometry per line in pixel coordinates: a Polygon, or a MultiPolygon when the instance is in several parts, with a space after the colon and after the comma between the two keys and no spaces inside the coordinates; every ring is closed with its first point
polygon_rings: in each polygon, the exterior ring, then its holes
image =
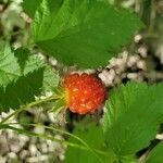
{"type": "Polygon", "coordinates": [[[35,96],[42,91],[45,68],[39,68],[26,76],[20,77],[16,83],[7,86],[5,90],[0,88],[0,109],[18,109],[20,105],[35,101],[35,96]]]}

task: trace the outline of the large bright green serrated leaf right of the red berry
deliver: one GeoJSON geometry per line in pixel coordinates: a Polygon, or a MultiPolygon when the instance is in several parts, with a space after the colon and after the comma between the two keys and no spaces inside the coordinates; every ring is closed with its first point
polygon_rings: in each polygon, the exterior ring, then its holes
{"type": "Polygon", "coordinates": [[[163,84],[128,83],[111,92],[103,128],[108,148],[118,156],[135,154],[154,139],[163,118],[163,84]]]}

